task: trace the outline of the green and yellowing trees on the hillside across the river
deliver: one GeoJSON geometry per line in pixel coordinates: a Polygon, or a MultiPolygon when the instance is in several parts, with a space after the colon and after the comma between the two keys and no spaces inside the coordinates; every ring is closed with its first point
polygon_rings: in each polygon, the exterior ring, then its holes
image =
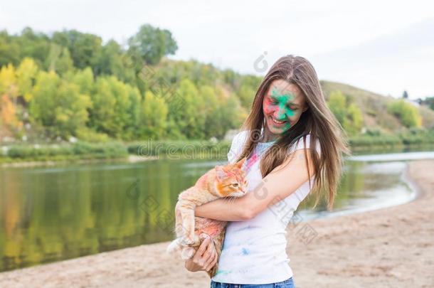
{"type": "MultiPolygon", "coordinates": [[[[127,43],[75,30],[0,32],[0,138],[27,142],[222,139],[240,126],[261,77],[196,60],[169,60],[170,31],[143,25],[127,43]]],[[[335,90],[327,103],[346,132],[366,132],[364,111],[335,90]]],[[[388,104],[403,127],[418,108],[388,104]]],[[[369,127],[367,128],[369,130],[369,127]]]]}

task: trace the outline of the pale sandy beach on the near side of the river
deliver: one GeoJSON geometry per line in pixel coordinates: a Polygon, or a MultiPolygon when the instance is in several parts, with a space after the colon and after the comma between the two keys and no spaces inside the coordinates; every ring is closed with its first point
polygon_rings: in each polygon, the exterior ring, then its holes
{"type": "MultiPolygon", "coordinates": [[[[297,288],[434,287],[434,161],[406,173],[418,187],[410,203],[288,228],[297,288]]],[[[0,287],[209,287],[205,272],[165,254],[167,244],[3,272],[0,287]]]]}

